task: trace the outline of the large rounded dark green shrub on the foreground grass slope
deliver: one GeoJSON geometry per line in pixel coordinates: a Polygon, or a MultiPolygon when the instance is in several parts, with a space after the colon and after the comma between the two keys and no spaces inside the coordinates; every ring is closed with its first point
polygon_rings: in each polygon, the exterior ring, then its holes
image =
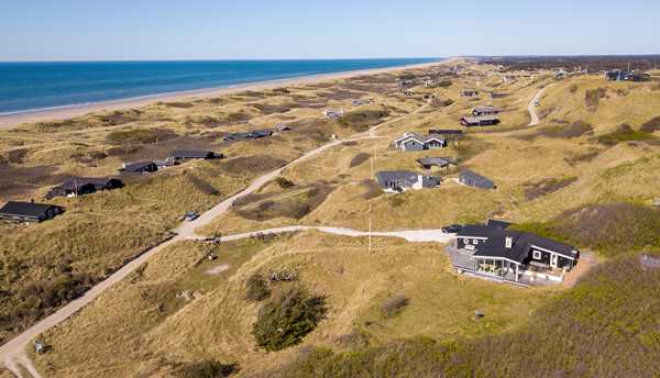
{"type": "Polygon", "coordinates": [[[264,349],[280,351],[300,343],[324,319],[326,312],[323,297],[293,288],[263,304],[252,334],[264,349]]]}

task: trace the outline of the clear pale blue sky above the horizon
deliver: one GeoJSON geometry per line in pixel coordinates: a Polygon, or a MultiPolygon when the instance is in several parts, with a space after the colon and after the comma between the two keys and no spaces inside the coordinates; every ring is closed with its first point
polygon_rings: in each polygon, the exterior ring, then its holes
{"type": "Polygon", "coordinates": [[[0,0],[0,60],[660,53],[660,1],[0,0]]]}

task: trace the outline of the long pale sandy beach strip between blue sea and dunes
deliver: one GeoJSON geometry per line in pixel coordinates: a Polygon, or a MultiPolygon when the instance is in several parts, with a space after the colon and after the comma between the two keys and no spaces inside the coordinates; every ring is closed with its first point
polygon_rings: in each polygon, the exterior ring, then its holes
{"type": "Polygon", "coordinates": [[[420,63],[420,64],[411,64],[405,66],[395,66],[395,67],[386,67],[386,68],[366,68],[366,69],[358,69],[358,70],[349,70],[349,71],[339,71],[332,74],[319,74],[319,75],[309,75],[309,76],[300,76],[288,79],[276,79],[276,80],[266,80],[266,81],[254,81],[248,84],[241,84],[229,87],[213,87],[213,88],[204,88],[204,89],[194,89],[186,91],[177,91],[169,93],[161,93],[161,94],[148,94],[136,98],[129,98],[122,100],[111,100],[111,101],[102,101],[95,102],[88,104],[74,104],[74,105],[64,105],[52,109],[41,109],[41,110],[26,110],[24,112],[14,113],[14,114],[4,114],[0,115],[0,129],[14,129],[25,123],[33,122],[42,122],[42,121],[61,121],[75,116],[86,115],[94,112],[102,112],[102,111],[116,111],[116,110],[124,110],[132,108],[145,107],[154,102],[158,101],[183,101],[183,100],[196,100],[200,98],[208,97],[217,97],[217,96],[226,96],[240,91],[246,90],[265,90],[273,89],[283,86],[298,86],[298,85],[307,85],[318,81],[332,80],[332,79],[345,79],[355,76],[362,75],[375,75],[383,73],[391,73],[404,69],[415,69],[415,68],[425,68],[432,67],[438,65],[443,65],[449,62],[454,62],[457,58],[446,58],[443,60],[438,62],[429,62],[429,63],[420,63]]]}

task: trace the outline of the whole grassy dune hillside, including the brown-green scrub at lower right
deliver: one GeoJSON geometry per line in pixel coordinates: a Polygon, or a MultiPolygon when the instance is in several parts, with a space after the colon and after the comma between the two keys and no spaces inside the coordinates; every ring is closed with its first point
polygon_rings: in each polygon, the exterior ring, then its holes
{"type": "MultiPolygon", "coordinates": [[[[660,305],[660,276],[658,270],[641,269],[639,254],[657,255],[660,249],[660,215],[651,205],[651,200],[660,197],[660,91],[653,84],[606,82],[595,76],[557,81],[544,71],[504,80],[502,73],[487,65],[461,64],[458,73],[406,71],[413,78],[427,75],[451,80],[451,85],[420,85],[415,87],[416,94],[408,97],[396,89],[395,76],[385,74],[191,104],[154,104],[142,114],[167,114],[185,122],[176,126],[145,121],[150,126],[140,124],[140,129],[152,133],[128,134],[146,143],[141,148],[155,148],[154,135],[166,138],[158,140],[161,145],[188,133],[187,137],[218,143],[233,159],[179,167],[118,192],[59,200],[74,211],[62,216],[62,223],[38,227],[51,230],[64,222],[72,222],[68,226],[73,227],[80,224],[81,211],[106,214],[99,219],[107,222],[108,215],[101,211],[112,209],[113,213],[125,212],[127,219],[143,216],[140,224],[153,225],[144,227],[144,235],[162,237],[184,210],[204,210],[258,171],[293,159],[333,133],[345,137],[421,109],[378,129],[380,138],[346,142],[287,168],[200,232],[231,234],[290,224],[367,230],[370,218],[374,230],[439,229],[501,218],[515,222],[516,227],[574,244],[595,256],[598,268],[580,277],[574,287],[520,289],[457,275],[443,246],[433,243],[375,238],[371,254],[366,238],[317,232],[220,246],[180,243],[44,335],[53,348],[33,356],[35,364],[55,377],[180,377],[186,369],[226,366],[238,376],[263,377],[652,376],[660,369],[654,316],[660,305]],[[541,124],[528,127],[527,104],[543,87],[547,92],[537,108],[541,124]],[[480,96],[461,97],[469,88],[477,89],[480,96]],[[492,99],[493,91],[502,96],[492,99]],[[425,93],[452,101],[425,107],[425,93]],[[352,107],[351,99],[367,97],[375,103],[352,107]],[[486,103],[504,109],[499,126],[471,129],[459,145],[441,151],[402,153],[392,147],[393,140],[404,132],[459,127],[461,115],[486,103]],[[324,120],[320,112],[326,107],[344,108],[351,116],[343,124],[324,120]],[[222,123],[229,121],[221,114],[234,121],[222,123]],[[248,143],[218,142],[226,130],[245,129],[238,123],[245,119],[251,126],[289,122],[294,130],[248,143]],[[421,171],[416,159],[425,156],[454,157],[460,165],[440,173],[443,182],[438,189],[391,196],[375,186],[373,173],[421,171]],[[497,189],[484,191],[458,184],[455,178],[465,168],[493,179],[497,189]],[[128,193],[132,193],[131,201],[124,199],[128,193]],[[122,204],[113,208],[116,202],[122,204]],[[86,207],[78,212],[80,203],[86,207]],[[165,220],[147,215],[152,213],[163,214],[165,220]],[[209,253],[218,258],[205,259],[209,253]],[[273,274],[289,273],[294,273],[294,281],[268,279],[273,274]],[[254,277],[266,280],[266,298],[248,296],[254,277]],[[314,326],[305,325],[304,333],[311,332],[299,344],[266,352],[257,346],[253,324],[264,312],[278,313],[263,308],[287,309],[283,304],[286,298],[298,298],[287,297],[290,292],[322,298],[327,311],[318,324],[314,319],[314,326]],[[475,318],[477,310],[485,316],[475,318]]],[[[117,136],[108,138],[113,127],[124,126],[103,122],[92,127],[98,132],[95,141],[133,154],[135,142],[119,144],[117,136]]],[[[66,133],[80,132],[75,122],[64,127],[66,133]]],[[[136,124],[131,127],[138,129],[136,124]]],[[[70,135],[59,136],[67,143],[62,148],[69,148],[70,142],[65,141],[70,135]]],[[[125,137],[124,133],[121,138],[125,137]]],[[[28,146],[25,142],[21,147],[28,153],[7,155],[23,162],[10,163],[12,169],[44,164],[31,163],[34,156],[46,154],[40,152],[43,146],[37,152],[28,146]]],[[[18,145],[12,148],[20,149],[18,145]]],[[[101,167],[99,170],[106,169],[101,167]]],[[[30,169],[25,175],[34,173],[30,169]]],[[[117,229],[108,235],[123,232],[119,224],[112,223],[117,229]]],[[[135,238],[148,241],[147,236],[128,235],[127,244],[135,238]]],[[[15,237],[8,237],[13,243],[9,245],[16,245],[11,248],[13,256],[26,247],[19,246],[25,236],[15,237]]],[[[99,238],[108,244],[100,244],[103,248],[111,247],[109,241],[109,236],[99,238]]],[[[66,244],[67,248],[70,245],[66,244]]],[[[53,247],[47,255],[62,256],[56,254],[62,249],[53,247]]],[[[85,257],[100,258],[98,255],[75,251],[72,266],[76,269],[72,271],[98,275],[100,267],[117,264],[131,251],[127,247],[117,249],[117,256],[103,255],[99,265],[85,257]]],[[[271,323],[297,324],[305,319],[296,310],[288,319],[278,318],[280,323],[271,323]]],[[[279,332],[266,331],[256,333],[279,332]]],[[[288,332],[283,327],[282,333],[288,332]]],[[[261,338],[260,343],[275,345],[261,338]]]]}

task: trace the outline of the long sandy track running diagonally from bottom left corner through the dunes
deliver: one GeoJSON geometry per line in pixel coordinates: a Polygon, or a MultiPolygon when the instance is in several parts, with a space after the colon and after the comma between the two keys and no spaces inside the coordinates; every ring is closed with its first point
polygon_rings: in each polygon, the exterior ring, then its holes
{"type": "MultiPolygon", "coordinates": [[[[199,216],[197,220],[195,220],[193,222],[184,223],[183,225],[180,225],[177,230],[175,230],[175,232],[177,234],[175,237],[173,237],[166,242],[163,242],[162,244],[146,251],[145,253],[143,253],[142,255],[140,255],[139,257],[131,260],[130,263],[128,263],[127,265],[121,267],[119,270],[117,270],[116,273],[110,275],[103,281],[97,284],[95,287],[89,289],[80,298],[77,298],[77,299],[70,301],[69,303],[62,307],[59,310],[57,310],[53,314],[48,315],[47,318],[44,318],[38,323],[34,324],[33,326],[23,331],[21,334],[19,334],[14,338],[7,342],[4,345],[0,346],[0,362],[2,362],[4,364],[4,367],[19,378],[28,378],[21,374],[20,366],[24,367],[30,373],[30,375],[32,375],[33,378],[41,378],[41,375],[34,367],[34,365],[32,364],[32,362],[30,360],[30,358],[25,352],[25,348],[28,347],[30,342],[32,340],[34,340],[35,337],[37,337],[40,334],[46,332],[47,330],[56,326],[57,324],[64,322],[66,319],[74,315],[76,312],[78,312],[85,305],[87,305],[88,303],[94,301],[97,297],[99,297],[103,291],[106,291],[107,289],[112,287],[114,284],[124,279],[128,275],[130,275],[133,270],[135,270],[140,265],[144,264],[153,255],[157,254],[165,247],[167,247],[176,242],[179,242],[179,241],[198,238],[198,236],[196,236],[196,234],[195,234],[196,229],[199,229],[201,226],[209,224],[213,219],[216,219],[217,216],[223,214],[229,209],[231,209],[231,207],[233,205],[233,203],[237,200],[258,190],[266,182],[268,182],[268,181],[275,179],[277,176],[279,176],[279,174],[282,174],[282,171],[284,169],[286,169],[295,164],[298,164],[302,160],[306,160],[310,157],[317,156],[329,148],[341,145],[344,142],[377,138],[378,137],[376,135],[377,129],[385,126],[387,124],[403,121],[411,115],[419,113],[420,111],[425,110],[427,107],[428,107],[427,104],[419,107],[415,111],[413,111],[408,114],[405,114],[399,118],[381,123],[381,124],[370,129],[367,132],[356,134],[349,140],[332,141],[328,144],[324,144],[316,149],[312,149],[312,151],[301,155],[300,157],[292,160],[290,163],[288,163],[287,165],[280,167],[278,169],[275,169],[272,173],[268,173],[266,175],[263,175],[263,176],[256,178],[254,181],[252,181],[252,184],[248,188],[245,188],[241,192],[223,200],[222,202],[218,203],[217,205],[211,208],[209,211],[201,214],[201,216],[199,216]]],[[[353,235],[353,236],[356,236],[355,233],[359,233],[353,230],[333,229],[333,227],[318,227],[318,230],[321,230],[321,231],[333,230],[333,231],[337,231],[338,234],[353,235]],[[342,232],[342,233],[340,233],[340,232],[342,232]]],[[[263,231],[262,231],[262,233],[263,233],[263,231]]],[[[398,232],[398,233],[405,234],[405,233],[410,233],[410,232],[398,232]]],[[[415,232],[413,232],[413,233],[415,233],[415,232]]],[[[362,233],[362,234],[364,234],[364,233],[362,233]]],[[[387,233],[385,233],[385,234],[387,234],[387,233]]],[[[367,235],[369,235],[369,233],[367,233],[367,235]]],[[[376,233],[372,233],[372,235],[376,235],[376,233]]],[[[240,235],[234,235],[233,237],[240,238],[238,236],[240,236],[240,235]]],[[[230,236],[228,236],[228,237],[230,237],[230,236]]],[[[245,236],[245,237],[248,237],[248,236],[245,236]]],[[[409,237],[415,237],[415,235],[409,236],[409,237]]],[[[424,238],[425,236],[419,235],[418,237],[424,238]]]]}

